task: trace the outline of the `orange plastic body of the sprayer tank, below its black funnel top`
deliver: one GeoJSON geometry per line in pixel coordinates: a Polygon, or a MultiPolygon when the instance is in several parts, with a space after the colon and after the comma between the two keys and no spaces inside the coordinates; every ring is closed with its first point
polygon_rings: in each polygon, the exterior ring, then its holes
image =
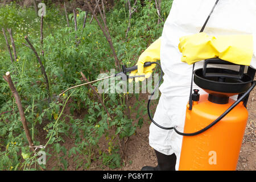
{"type": "MultiPolygon", "coordinates": [[[[187,109],[184,133],[193,133],[209,125],[228,109],[228,104],[208,101],[208,94],[187,109]]],[[[188,105],[189,107],[189,105],[188,105]]],[[[179,170],[236,170],[248,113],[242,102],[209,130],[184,136],[179,170]]]]}

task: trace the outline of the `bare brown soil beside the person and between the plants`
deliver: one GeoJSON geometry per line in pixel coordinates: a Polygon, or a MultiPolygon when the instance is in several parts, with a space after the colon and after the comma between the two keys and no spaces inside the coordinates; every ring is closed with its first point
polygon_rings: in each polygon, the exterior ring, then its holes
{"type": "MultiPolygon", "coordinates": [[[[146,100],[147,95],[141,95],[144,100],[146,100]]],[[[131,100],[135,100],[132,98],[131,100]]],[[[133,103],[134,101],[131,101],[133,103]]],[[[245,135],[243,137],[243,143],[240,151],[240,158],[237,164],[238,171],[255,171],[256,170],[256,89],[254,89],[249,97],[247,109],[249,111],[249,119],[247,121],[247,126],[245,130],[245,135]]],[[[146,107],[147,102],[144,102],[146,107]]],[[[156,105],[153,105],[155,107],[156,105]]],[[[69,109],[65,109],[65,114],[70,114],[69,109]]],[[[84,115],[85,113],[81,114],[84,115]]],[[[81,118],[81,115],[77,115],[77,118],[81,118]]],[[[131,114],[131,118],[134,119],[134,122],[137,122],[135,119],[135,113],[131,114]]],[[[138,129],[136,134],[130,137],[129,148],[127,150],[127,160],[126,165],[121,168],[110,169],[110,168],[100,168],[99,162],[92,162],[88,170],[123,170],[123,171],[139,171],[143,166],[156,166],[157,161],[155,157],[155,152],[148,144],[148,135],[149,135],[149,126],[150,120],[148,116],[144,116],[144,123],[141,129],[138,129]]],[[[65,147],[67,149],[73,146],[74,138],[65,138],[65,147]]],[[[106,148],[107,144],[100,142],[101,148],[106,148]]],[[[71,156],[68,159],[68,170],[84,170],[83,168],[76,168],[76,163],[73,162],[75,156],[71,156]]],[[[51,170],[53,166],[56,166],[54,157],[48,160],[47,169],[51,170]]]]}

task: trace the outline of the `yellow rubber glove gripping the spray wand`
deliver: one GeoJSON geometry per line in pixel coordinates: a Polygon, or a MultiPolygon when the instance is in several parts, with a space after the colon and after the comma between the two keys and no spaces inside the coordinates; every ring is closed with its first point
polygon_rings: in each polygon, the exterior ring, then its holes
{"type": "MultiPolygon", "coordinates": [[[[155,64],[152,64],[149,67],[144,68],[144,63],[146,62],[153,62],[160,60],[160,45],[161,39],[155,40],[144,52],[142,52],[141,56],[139,56],[137,66],[138,69],[134,70],[130,73],[130,76],[141,76],[144,75],[145,77],[136,77],[135,82],[143,81],[145,78],[150,77],[151,73],[153,72],[152,69],[155,68],[155,64]]],[[[129,78],[129,82],[132,82],[133,78],[129,78]]]]}

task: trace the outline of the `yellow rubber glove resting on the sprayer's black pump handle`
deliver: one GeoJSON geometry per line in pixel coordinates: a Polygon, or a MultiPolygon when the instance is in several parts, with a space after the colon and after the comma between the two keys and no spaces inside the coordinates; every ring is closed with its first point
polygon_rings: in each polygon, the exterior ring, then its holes
{"type": "Polygon", "coordinates": [[[181,61],[197,61],[219,57],[234,64],[250,65],[253,57],[253,35],[209,36],[204,32],[180,38],[181,61]]]}

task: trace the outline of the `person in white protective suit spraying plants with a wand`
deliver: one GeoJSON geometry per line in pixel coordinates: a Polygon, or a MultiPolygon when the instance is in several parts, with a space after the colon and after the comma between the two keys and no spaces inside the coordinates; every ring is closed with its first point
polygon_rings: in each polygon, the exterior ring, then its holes
{"type": "MultiPolygon", "coordinates": [[[[171,3],[171,1],[170,1],[171,3]]],[[[164,23],[162,36],[148,47],[138,60],[138,72],[130,76],[145,75],[148,78],[154,66],[143,68],[146,61],[160,60],[164,81],[160,85],[161,96],[156,107],[154,121],[164,127],[177,126],[183,131],[185,111],[189,100],[192,65],[181,61],[180,38],[197,34],[212,10],[216,0],[174,0],[170,14],[164,23]]],[[[252,35],[256,45],[256,1],[220,0],[209,18],[204,32],[208,35],[252,35]]],[[[250,66],[256,68],[256,46],[250,66]]],[[[195,63],[202,68],[203,61],[195,63]]],[[[145,77],[135,78],[143,81],[145,77]]],[[[132,81],[131,79],[129,80],[132,81]]],[[[193,89],[199,89],[193,84],[193,89]]],[[[203,94],[200,90],[200,94],[203,94]]],[[[163,130],[154,123],[150,125],[149,144],[154,148],[158,166],[142,170],[177,170],[181,152],[182,136],[174,130],[163,130]]]]}

